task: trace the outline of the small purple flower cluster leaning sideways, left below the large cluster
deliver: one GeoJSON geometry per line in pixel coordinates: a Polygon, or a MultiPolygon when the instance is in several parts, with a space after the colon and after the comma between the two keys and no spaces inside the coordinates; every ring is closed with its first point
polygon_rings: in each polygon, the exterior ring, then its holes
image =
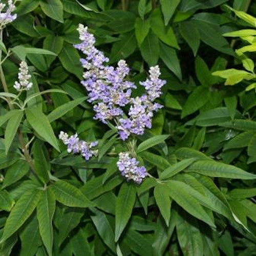
{"type": "Polygon", "coordinates": [[[65,145],[68,146],[68,152],[73,154],[81,154],[84,159],[87,161],[92,156],[97,156],[98,150],[92,150],[92,147],[98,145],[97,141],[93,142],[86,142],[84,140],[80,140],[77,136],[77,134],[72,135],[69,137],[69,135],[65,132],[59,133],[59,139],[63,141],[65,145]]]}

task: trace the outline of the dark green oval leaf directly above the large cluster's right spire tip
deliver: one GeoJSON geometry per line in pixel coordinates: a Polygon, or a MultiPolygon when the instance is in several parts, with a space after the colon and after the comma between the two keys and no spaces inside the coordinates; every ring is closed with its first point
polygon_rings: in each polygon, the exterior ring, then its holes
{"type": "Polygon", "coordinates": [[[159,41],[157,36],[151,31],[141,44],[140,52],[149,66],[155,66],[157,64],[160,55],[159,41]]]}

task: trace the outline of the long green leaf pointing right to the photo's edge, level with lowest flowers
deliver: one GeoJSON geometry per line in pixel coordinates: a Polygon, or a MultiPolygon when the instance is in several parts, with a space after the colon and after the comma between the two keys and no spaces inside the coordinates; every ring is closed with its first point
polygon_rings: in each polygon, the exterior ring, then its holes
{"type": "Polygon", "coordinates": [[[210,177],[222,177],[231,179],[252,180],[256,175],[225,163],[212,160],[199,160],[186,168],[187,172],[194,172],[210,177]]]}

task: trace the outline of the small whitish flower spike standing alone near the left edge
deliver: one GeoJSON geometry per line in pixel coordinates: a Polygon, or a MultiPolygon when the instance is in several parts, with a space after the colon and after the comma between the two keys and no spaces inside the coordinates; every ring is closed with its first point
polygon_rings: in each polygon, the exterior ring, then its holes
{"type": "Polygon", "coordinates": [[[28,91],[33,86],[32,82],[29,82],[31,75],[29,74],[29,69],[26,61],[22,61],[19,64],[18,81],[15,81],[14,88],[17,91],[26,90],[28,91]]]}

